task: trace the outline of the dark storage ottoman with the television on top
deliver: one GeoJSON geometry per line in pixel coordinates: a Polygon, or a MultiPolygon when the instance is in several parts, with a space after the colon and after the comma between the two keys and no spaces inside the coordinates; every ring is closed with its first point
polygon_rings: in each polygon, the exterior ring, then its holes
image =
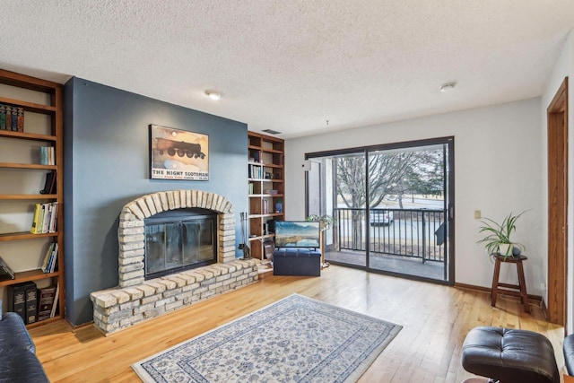
{"type": "Polygon", "coordinates": [[[273,274],[321,276],[321,252],[314,248],[276,248],[273,274]]]}

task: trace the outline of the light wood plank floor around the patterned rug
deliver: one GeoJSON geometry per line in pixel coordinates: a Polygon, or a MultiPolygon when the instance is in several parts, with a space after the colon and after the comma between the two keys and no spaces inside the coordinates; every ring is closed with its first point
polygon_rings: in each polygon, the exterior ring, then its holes
{"type": "MultiPolygon", "coordinates": [[[[187,309],[104,336],[93,326],[65,321],[30,330],[52,382],[139,381],[130,365],[221,326],[293,292],[404,326],[360,382],[453,382],[472,375],[460,364],[460,348],[474,326],[507,326],[548,336],[559,369],[563,328],[545,321],[535,302],[522,311],[513,297],[491,308],[485,292],[413,282],[331,265],[317,277],[266,276],[258,283],[187,309]]],[[[269,334],[273,336],[273,334],[269,334]]]]}

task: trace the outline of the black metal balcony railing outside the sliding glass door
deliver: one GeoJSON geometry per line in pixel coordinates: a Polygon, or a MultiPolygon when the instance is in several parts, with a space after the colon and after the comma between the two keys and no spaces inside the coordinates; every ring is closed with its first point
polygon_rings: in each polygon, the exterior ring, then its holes
{"type": "Polygon", "coordinates": [[[335,209],[335,246],[400,257],[422,258],[422,262],[445,262],[447,222],[444,210],[431,209],[335,209]],[[369,232],[367,232],[369,230],[369,232]]]}

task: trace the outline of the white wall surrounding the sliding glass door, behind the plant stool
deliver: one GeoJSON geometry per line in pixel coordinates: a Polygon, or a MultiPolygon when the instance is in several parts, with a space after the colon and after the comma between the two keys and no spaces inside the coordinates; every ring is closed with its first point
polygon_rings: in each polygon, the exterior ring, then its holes
{"type": "MultiPolygon", "coordinates": [[[[480,239],[480,222],[474,220],[474,210],[501,220],[510,212],[529,209],[517,223],[516,239],[526,246],[528,293],[541,295],[545,262],[541,237],[546,212],[541,202],[545,172],[540,144],[540,102],[538,98],[521,100],[288,140],[285,142],[286,219],[305,218],[305,176],[301,162],[306,152],[453,135],[456,282],[491,286],[493,264],[483,248],[475,244],[480,239]]],[[[506,282],[517,283],[516,267],[503,269],[502,275],[506,282]]]]}

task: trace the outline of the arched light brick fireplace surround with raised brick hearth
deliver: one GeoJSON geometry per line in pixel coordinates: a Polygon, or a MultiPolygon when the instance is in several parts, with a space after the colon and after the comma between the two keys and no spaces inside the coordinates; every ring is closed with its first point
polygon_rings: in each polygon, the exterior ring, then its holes
{"type": "Polygon", "coordinates": [[[94,325],[106,335],[257,282],[257,260],[235,258],[235,215],[224,196],[200,190],[172,190],[141,196],[122,209],[117,237],[118,286],[91,293],[94,325]],[[185,208],[217,213],[217,264],[146,281],[144,220],[157,213],[185,208]]]}

